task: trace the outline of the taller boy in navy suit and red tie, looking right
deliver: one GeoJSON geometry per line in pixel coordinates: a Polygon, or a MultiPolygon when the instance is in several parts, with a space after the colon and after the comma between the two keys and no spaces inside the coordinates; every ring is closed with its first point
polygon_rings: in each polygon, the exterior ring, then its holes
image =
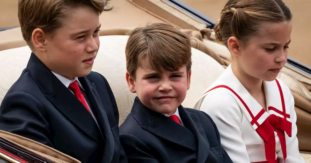
{"type": "Polygon", "coordinates": [[[104,0],[19,0],[28,65],[0,106],[0,129],[81,162],[127,162],[107,80],[91,72],[104,0]]]}

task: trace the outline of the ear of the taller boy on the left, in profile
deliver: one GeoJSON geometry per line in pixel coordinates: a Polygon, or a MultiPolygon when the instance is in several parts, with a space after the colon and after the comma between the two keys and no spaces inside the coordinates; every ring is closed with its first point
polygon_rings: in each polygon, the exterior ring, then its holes
{"type": "Polygon", "coordinates": [[[32,31],[31,35],[32,43],[34,44],[34,47],[39,51],[39,52],[45,52],[46,50],[46,34],[44,31],[40,28],[36,28],[34,31],[32,31]]]}

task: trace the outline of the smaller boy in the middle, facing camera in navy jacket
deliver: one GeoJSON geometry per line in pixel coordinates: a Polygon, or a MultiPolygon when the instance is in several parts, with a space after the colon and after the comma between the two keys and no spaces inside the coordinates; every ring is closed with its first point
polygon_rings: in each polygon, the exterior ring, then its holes
{"type": "Polygon", "coordinates": [[[211,118],[181,106],[190,87],[188,36],[168,24],[139,27],[129,33],[125,53],[128,87],[137,93],[120,126],[128,161],[231,163],[211,118]]]}

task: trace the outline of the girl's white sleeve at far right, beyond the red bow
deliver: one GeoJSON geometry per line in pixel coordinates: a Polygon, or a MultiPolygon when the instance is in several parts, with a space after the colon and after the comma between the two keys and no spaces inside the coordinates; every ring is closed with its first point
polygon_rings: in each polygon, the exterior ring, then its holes
{"type": "MultiPolygon", "coordinates": [[[[298,139],[297,139],[297,115],[295,112],[295,102],[294,102],[294,97],[290,92],[290,89],[285,86],[286,89],[284,91],[284,94],[287,95],[288,101],[289,101],[289,106],[290,106],[290,121],[292,123],[292,136],[289,137],[287,134],[285,134],[285,139],[286,139],[286,163],[295,163],[295,162],[305,162],[304,158],[300,155],[299,153],[299,148],[298,148],[298,139]]],[[[286,96],[285,96],[286,97],[286,96]]],[[[285,99],[286,100],[286,99],[285,99]]],[[[279,152],[277,153],[277,157],[281,158],[280,161],[284,162],[283,159],[283,153],[279,152]]]]}

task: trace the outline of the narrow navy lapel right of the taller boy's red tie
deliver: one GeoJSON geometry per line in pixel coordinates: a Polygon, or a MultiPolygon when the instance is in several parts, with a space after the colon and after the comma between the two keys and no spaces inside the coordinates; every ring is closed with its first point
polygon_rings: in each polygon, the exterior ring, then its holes
{"type": "Polygon", "coordinates": [[[94,83],[90,83],[90,81],[88,81],[85,77],[79,78],[79,81],[83,86],[83,88],[85,89],[87,96],[90,99],[92,112],[96,117],[101,133],[103,134],[103,137],[105,139],[103,158],[105,158],[105,161],[111,162],[112,157],[114,155],[115,143],[112,131],[110,129],[107,114],[104,110],[100,97],[96,91],[94,83]]]}

